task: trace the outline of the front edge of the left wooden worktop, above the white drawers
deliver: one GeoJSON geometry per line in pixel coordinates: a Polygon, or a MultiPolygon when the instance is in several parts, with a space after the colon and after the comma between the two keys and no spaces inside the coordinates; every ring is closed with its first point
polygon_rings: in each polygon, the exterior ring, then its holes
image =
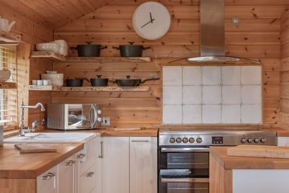
{"type": "MultiPolygon", "coordinates": [[[[76,154],[81,149],[83,149],[84,144],[83,143],[69,143],[69,144],[59,144],[59,145],[78,145],[77,147],[74,147],[69,152],[66,152],[65,154],[62,154],[60,157],[57,157],[56,159],[51,159],[49,162],[44,164],[43,166],[40,166],[39,168],[35,168],[33,170],[26,170],[26,171],[19,171],[19,170],[1,170],[0,171],[0,178],[6,178],[6,179],[32,179],[37,178],[38,175],[44,173],[45,171],[49,170],[50,168],[56,166],[57,164],[61,163],[61,161],[68,159],[68,157],[73,156],[73,154],[76,154]]],[[[38,154],[38,153],[34,153],[38,154]]],[[[40,153],[39,153],[40,154],[40,153]]],[[[33,160],[32,160],[33,161],[33,160]]]]}

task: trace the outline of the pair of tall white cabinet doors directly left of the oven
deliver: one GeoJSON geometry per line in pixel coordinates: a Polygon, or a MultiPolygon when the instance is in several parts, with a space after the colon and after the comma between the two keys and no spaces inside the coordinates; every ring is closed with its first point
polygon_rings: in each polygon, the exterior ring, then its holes
{"type": "Polygon", "coordinates": [[[102,138],[102,156],[102,193],[157,192],[156,137],[102,138]]]}

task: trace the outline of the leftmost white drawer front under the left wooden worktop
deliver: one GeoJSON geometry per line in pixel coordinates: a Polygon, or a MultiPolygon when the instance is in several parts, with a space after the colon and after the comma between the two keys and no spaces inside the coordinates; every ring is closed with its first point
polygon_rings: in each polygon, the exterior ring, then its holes
{"type": "Polygon", "coordinates": [[[37,193],[56,193],[58,166],[54,166],[37,177],[37,193]]]}

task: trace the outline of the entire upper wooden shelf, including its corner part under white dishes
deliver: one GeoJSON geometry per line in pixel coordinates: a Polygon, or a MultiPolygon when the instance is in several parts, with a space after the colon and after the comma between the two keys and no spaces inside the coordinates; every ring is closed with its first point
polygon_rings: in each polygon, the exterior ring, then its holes
{"type": "Polygon", "coordinates": [[[149,57],[67,57],[51,51],[32,51],[31,58],[52,62],[151,62],[149,57]]]}

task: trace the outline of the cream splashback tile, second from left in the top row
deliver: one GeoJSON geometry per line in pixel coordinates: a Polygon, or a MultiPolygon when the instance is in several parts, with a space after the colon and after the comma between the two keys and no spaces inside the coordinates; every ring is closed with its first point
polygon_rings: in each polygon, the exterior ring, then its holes
{"type": "Polygon", "coordinates": [[[201,85],[202,67],[183,67],[183,85],[201,85]]]}

